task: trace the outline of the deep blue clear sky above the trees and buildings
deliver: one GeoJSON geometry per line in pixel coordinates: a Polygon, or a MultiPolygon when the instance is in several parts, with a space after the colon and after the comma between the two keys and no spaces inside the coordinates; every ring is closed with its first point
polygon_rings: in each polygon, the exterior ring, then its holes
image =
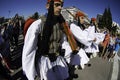
{"type": "MultiPolygon", "coordinates": [[[[38,12],[46,12],[47,0],[0,0],[0,16],[13,17],[16,13],[25,17],[38,12]],[[9,12],[10,11],[10,12],[9,12]]],[[[96,17],[102,14],[105,8],[110,7],[112,18],[120,24],[119,0],[64,0],[64,7],[75,6],[88,14],[88,17],[96,17]]]]}

